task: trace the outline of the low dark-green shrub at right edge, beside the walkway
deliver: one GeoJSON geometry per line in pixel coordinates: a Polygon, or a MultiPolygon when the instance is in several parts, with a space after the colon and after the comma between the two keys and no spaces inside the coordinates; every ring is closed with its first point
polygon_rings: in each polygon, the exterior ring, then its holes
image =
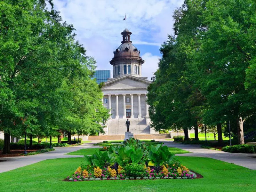
{"type": "Polygon", "coordinates": [[[221,149],[225,152],[231,152],[231,153],[256,153],[256,146],[252,145],[233,145],[233,146],[226,146],[221,149]]]}

